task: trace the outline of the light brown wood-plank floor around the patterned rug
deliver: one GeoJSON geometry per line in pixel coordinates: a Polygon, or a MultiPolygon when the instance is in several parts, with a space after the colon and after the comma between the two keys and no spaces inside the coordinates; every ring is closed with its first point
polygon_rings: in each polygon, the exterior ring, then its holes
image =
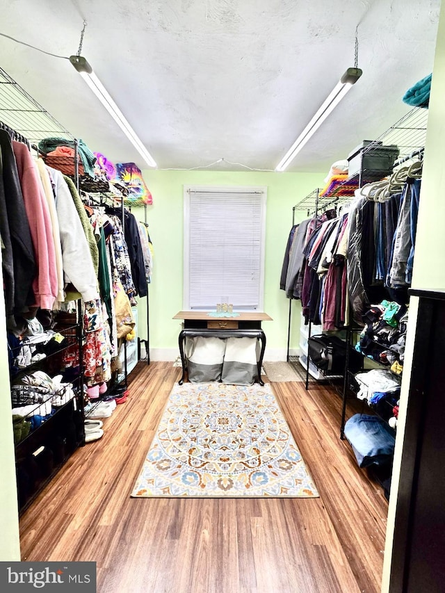
{"type": "Polygon", "coordinates": [[[138,364],[104,437],[22,515],[22,560],[95,561],[100,593],[379,592],[387,501],[339,439],[341,401],[321,384],[272,384],[320,498],[130,498],[179,376],[138,364]]]}

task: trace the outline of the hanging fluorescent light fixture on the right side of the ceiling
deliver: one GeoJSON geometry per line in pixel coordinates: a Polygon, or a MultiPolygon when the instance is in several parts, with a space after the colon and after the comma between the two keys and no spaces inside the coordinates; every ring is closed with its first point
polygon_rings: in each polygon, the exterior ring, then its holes
{"type": "Polygon", "coordinates": [[[302,133],[300,133],[300,136],[298,136],[296,141],[283,156],[280,163],[278,163],[275,171],[284,171],[284,169],[289,166],[298,152],[300,152],[302,147],[307,143],[307,140],[309,140],[312,134],[321,126],[321,124],[323,124],[326,117],[334,110],[335,106],[339,104],[341,99],[343,99],[348,90],[355,82],[357,82],[360,76],[362,76],[362,70],[359,68],[348,68],[348,70],[346,70],[343,76],[341,76],[339,83],[337,83],[337,86],[335,86],[329,97],[324,101],[321,108],[318,109],[314,117],[312,117],[312,120],[307,124],[302,133]]]}

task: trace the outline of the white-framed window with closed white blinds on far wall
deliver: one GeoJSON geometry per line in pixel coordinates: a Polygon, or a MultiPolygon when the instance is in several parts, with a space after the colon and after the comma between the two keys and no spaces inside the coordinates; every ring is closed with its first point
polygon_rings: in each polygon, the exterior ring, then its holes
{"type": "Polygon", "coordinates": [[[266,188],[184,186],[184,309],[262,311],[266,188]]]}

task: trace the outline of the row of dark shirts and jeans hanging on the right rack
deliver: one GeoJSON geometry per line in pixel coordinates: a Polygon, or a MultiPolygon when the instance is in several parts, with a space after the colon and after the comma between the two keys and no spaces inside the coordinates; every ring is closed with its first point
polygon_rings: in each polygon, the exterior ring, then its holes
{"type": "Polygon", "coordinates": [[[362,188],[341,216],[328,211],[293,225],[280,289],[301,299],[306,320],[336,330],[348,323],[349,304],[362,324],[373,303],[407,302],[420,188],[419,177],[405,176],[399,193],[380,193],[378,201],[362,188]]]}

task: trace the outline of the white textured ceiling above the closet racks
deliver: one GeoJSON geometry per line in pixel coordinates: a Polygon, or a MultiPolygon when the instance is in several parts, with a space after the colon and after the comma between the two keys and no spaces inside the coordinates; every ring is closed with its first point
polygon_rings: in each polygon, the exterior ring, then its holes
{"type": "MultiPolygon", "coordinates": [[[[439,0],[10,0],[0,32],[81,54],[159,168],[274,169],[354,65],[362,78],[289,171],[327,172],[409,111],[432,71],[439,0]]],[[[67,60],[0,37],[0,66],[95,151],[145,165],[67,60]]]]}

